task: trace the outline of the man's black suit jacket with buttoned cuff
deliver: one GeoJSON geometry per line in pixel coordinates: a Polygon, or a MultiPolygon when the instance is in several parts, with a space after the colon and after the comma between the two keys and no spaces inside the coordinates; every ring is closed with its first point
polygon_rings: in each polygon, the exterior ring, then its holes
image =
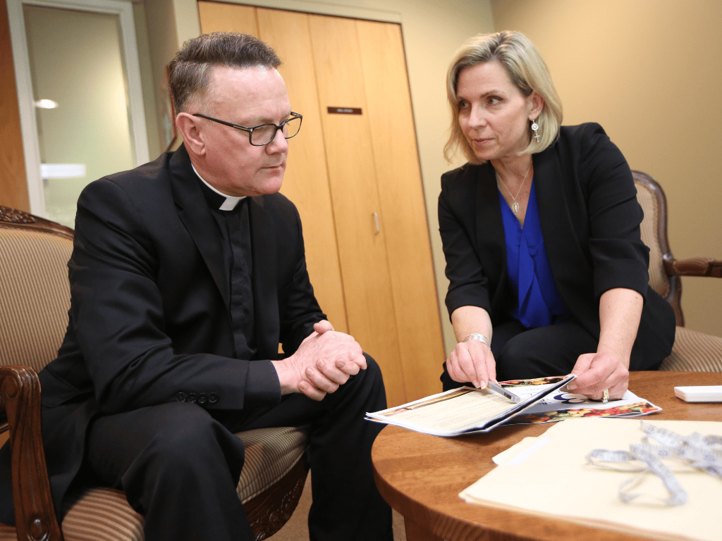
{"type": "MultiPolygon", "coordinates": [[[[229,277],[199,182],[181,146],[92,182],[79,198],[69,325],[57,359],[40,372],[58,514],[93,416],[175,400],[220,410],[280,401],[269,361],[232,359],[229,277]]],[[[250,198],[248,214],[257,358],[277,359],[279,342],[293,353],[326,316],[295,206],[262,195],[250,198]]],[[[12,523],[8,459],[0,455],[0,522],[12,523]]]]}

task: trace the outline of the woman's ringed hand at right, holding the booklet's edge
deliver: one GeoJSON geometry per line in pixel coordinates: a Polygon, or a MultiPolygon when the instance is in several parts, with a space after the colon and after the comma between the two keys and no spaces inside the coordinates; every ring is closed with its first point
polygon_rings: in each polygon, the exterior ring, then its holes
{"type": "Polygon", "coordinates": [[[627,364],[614,353],[584,353],[577,359],[572,374],[577,379],[567,389],[594,400],[601,400],[604,390],[609,390],[609,400],[619,400],[630,382],[627,364]]]}

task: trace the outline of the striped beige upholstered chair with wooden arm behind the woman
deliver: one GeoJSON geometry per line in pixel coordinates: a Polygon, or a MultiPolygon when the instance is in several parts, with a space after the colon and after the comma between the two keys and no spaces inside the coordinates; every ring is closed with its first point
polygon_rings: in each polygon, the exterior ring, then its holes
{"type": "MultiPolygon", "coordinates": [[[[705,335],[684,327],[681,276],[722,278],[722,260],[711,258],[674,259],[667,241],[667,203],[656,180],[633,171],[637,199],[644,209],[642,240],[650,249],[649,283],[674,307],[677,333],[671,355],[662,370],[722,372],[722,338],[705,335]]],[[[718,299],[720,304],[722,299],[718,299]]]]}

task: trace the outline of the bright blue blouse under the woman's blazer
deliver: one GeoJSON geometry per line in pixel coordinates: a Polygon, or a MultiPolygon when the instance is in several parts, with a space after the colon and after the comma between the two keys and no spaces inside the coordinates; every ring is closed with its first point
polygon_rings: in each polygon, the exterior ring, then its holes
{"type": "Polygon", "coordinates": [[[502,201],[507,271],[513,289],[518,293],[518,305],[511,315],[530,329],[551,325],[557,316],[567,315],[567,308],[554,283],[547,250],[544,249],[534,179],[531,180],[523,227],[501,192],[499,197],[502,201]]]}

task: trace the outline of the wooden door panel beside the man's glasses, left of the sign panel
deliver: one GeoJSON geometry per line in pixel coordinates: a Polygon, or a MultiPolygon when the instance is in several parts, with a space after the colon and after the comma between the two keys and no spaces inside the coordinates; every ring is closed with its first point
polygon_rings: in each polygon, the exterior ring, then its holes
{"type": "Polygon", "coordinates": [[[279,71],[288,87],[291,108],[303,114],[300,133],[289,141],[281,193],[295,203],[301,216],[316,298],[334,328],[348,333],[308,14],[261,8],[257,13],[261,39],[282,61],[287,60],[279,71]]]}

